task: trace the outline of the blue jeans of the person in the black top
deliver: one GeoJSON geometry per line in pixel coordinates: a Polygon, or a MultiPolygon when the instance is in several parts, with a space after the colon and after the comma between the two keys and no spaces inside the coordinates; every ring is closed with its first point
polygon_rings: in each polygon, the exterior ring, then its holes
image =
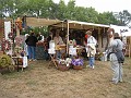
{"type": "Polygon", "coordinates": [[[36,59],[36,47],[27,46],[28,59],[36,59]]]}

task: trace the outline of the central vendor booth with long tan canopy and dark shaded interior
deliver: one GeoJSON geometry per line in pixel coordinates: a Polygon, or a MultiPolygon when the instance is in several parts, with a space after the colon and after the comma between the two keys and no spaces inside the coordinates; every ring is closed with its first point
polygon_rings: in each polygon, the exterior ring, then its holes
{"type": "MultiPolygon", "coordinates": [[[[103,24],[94,24],[86,22],[78,22],[78,21],[59,21],[59,20],[48,20],[48,19],[37,19],[37,17],[26,17],[26,25],[32,27],[38,26],[48,26],[50,29],[57,29],[60,32],[60,36],[62,37],[64,44],[67,44],[67,53],[69,53],[69,40],[73,40],[75,38],[76,45],[83,46],[85,32],[87,29],[93,30],[93,36],[97,39],[99,52],[105,51],[105,47],[107,46],[107,29],[110,27],[109,25],[103,24]]],[[[53,35],[55,36],[55,35],[53,35]]],[[[80,47],[78,47],[79,50],[80,47]]]]}

